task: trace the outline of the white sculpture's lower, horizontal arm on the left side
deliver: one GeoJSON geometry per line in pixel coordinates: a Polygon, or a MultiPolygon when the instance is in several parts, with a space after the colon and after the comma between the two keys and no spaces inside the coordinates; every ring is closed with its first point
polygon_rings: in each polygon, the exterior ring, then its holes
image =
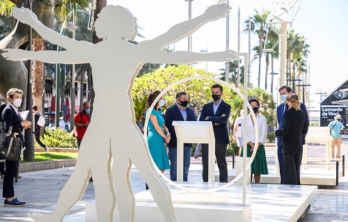
{"type": "Polygon", "coordinates": [[[23,49],[3,49],[1,54],[3,58],[12,61],[26,61],[26,60],[38,60],[44,63],[64,63],[64,64],[76,64],[76,63],[89,63],[86,57],[81,56],[83,51],[74,54],[71,51],[26,51],[23,49]]]}

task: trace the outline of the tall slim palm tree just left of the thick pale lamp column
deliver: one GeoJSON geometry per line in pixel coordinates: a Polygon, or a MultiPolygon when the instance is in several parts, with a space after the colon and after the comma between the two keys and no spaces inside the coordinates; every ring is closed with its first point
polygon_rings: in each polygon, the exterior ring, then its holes
{"type": "MultiPolygon", "coordinates": [[[[251,17],[251,31],[258,35],[259,38],[259,49],[258,49],[258,58],[259,58],[259,71],[258,71],[258,86],[260,87],[261,80],[261,57],[262,57],[262,42],[264,41],[264,35],[266,33],[267,18],[271,12],[266,11],[260,14],[258,10],[255,10],[255,15],[251,17]]],[[[244,22],[246,29],[243,32],[249,30],[249,20],[246,19],[244,22]]]]}

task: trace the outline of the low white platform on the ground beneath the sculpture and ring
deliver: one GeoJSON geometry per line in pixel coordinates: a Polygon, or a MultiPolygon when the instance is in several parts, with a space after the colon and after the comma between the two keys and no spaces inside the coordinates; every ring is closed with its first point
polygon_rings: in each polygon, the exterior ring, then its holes
{"type": "MultiPolygon", "coordinates": [[[[216,186],[218,183],[194,183],[189,187],[216,186]]],[[[171,188],[172,189],[172,188],[171,188]]],[[[180,221],[297,221],[315,197],[316,186],[290,186],[278,184],[248,184],[246,189],[246,207],[182,204],[179,191],[173,191],[175,213],[180,221]],[[251,205],[251,206],[250,206],[251,205]],[[251,219],[248,212],[252,209],[251,219]],[[239,211],[239,212],[238,212],[239,211]],[[231,216],[232,214],[236,216],[231,216]],[[240,219],[239,216],[243,216],[240,219]]],[[[241,203],[242,185],[234,184],[215,194],[228,195],[228,203],[241,203]]],[[[194,201],[193,194],[188,194],[194,201]]],[[[136,193],[135,221],[164,221],[159,209],[153,203],[149,191],[136,193]],[[139,201],[141,200],[141,201],[139,201]]],[[[116,210],[115,215],[118,215],[116,210]]],[[[117,217],[117,216],[116,216],[117,217]]],[[[86,205],[86,221],[97,221],[94,203],[86,205]]],[[[114,221],[118,221],[115,219],[114,221]]]]}

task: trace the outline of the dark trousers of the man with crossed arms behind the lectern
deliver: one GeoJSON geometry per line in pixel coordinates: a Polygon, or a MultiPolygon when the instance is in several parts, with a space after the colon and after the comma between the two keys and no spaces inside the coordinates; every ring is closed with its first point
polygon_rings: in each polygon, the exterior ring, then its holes
{"type": "MultiPolygon", "coordinates": [[[[226,162],[227,144],[215,143],[215,157],[219,167],[220,182],[228,182],[226,162]]],[[[202,144],[203,182],[208,182],[208,144],[202,144]]]]}

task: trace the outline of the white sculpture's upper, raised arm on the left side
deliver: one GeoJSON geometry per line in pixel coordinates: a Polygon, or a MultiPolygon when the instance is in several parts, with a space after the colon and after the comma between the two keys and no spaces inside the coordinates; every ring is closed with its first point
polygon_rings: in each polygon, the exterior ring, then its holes
{"type": "Polygon", "coordinates": [[[60,45],[61,47],[64,47],[65,49],[72,49],[77,47],[77,41],[72,40],[71,38],[68,38],[67,36],[61,35],[60,33],[57,33],[56,31],[49,29],[47,26],[42,24],[38,17],[28,8],[17,8],[13,7],[13,17],[19,20],[19,22],[22,22],[24,24],[28,24],[31,26],[35,31],[41,35],[42,38],[45,40],[52,42],[56,45],[60,45]]]}

